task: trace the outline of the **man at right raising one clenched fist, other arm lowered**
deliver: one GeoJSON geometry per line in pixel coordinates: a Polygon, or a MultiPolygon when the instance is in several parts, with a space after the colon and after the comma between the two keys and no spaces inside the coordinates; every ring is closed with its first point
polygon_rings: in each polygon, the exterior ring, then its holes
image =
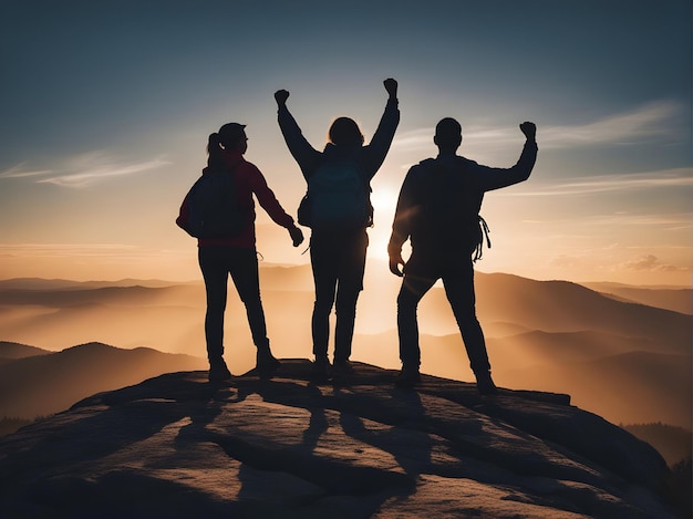
{"type": "Polygon", "coordinates": [[[413,387],[421,381],[416,309],[441,279],[478,391],[482,394],[497,391],[490,376],[484,332],[476,318],[474,261],[480,258],[487,232],[486,222],[479,217],[484,193],[526,180],[534,168],[536,126],[523,123],[520,129],[527,142],[517,164],[507,169],[492,168],[456,155],[462,144],[462,126],[454,118],[444,118],[436,125],[433,138],[438,156],[423,160],[406,174],[387,246],[390,270],[404,277],[397,297],[402,361],[397,386],[413,387]],[[405,262],[402,246],[407,239],[412,255],[405,262]]]}

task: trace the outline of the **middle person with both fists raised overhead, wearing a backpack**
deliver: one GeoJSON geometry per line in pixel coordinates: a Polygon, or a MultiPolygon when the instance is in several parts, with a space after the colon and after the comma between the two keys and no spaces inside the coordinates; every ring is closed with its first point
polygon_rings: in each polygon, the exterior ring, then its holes
{"type": "Polygon", "coordinates": [[[369,145],[363,144],[359,125],[349,117],[334,120],[329,143],[322,152],[303,137],[289,113],[289,92],[275,93],[281,133],[308,183],[307,198],[299,208],[299,224],[311,228],[310,259],[316,286],[311,329],[317,377],[328,377],[329,318],[337,302],[333,372],[353,371],[349,357],[356,315],[356,301],[363,289],[373,208],[370,181],[383,164],[400,122],[397,82],[384,81],[389,100],[369,145]]]}

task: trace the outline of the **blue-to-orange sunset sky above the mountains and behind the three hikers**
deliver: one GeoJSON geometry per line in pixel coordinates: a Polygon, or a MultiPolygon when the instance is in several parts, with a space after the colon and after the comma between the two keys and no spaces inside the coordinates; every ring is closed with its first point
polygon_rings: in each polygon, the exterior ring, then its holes
{"type": "MultiPolygon", "coordinates": [[[[0,2],[0,278],[196,279],[174,219],[210,132],[248,125],[285,208],[306,185],[272,94],[314,147],[355,118],[366,141],[400,82],[402,120],[373,181],[369,255],[385,257],[406,169],[456,117],[462,155],[530,179],[486,196],[482,271],[689,284],[690,0],[0,2]]],[[[258,249],[303,263],[260,210],[258,249]]],[[[384,276],[387,273],[384,271],[384,276]]]]}

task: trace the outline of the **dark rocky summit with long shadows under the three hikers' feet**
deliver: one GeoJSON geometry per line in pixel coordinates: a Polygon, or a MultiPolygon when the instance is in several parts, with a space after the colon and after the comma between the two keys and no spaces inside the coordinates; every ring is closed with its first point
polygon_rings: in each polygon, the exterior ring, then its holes
{"type": "Polygon", "coordinates": [[[8,518],[670,517],[666,466],[568,395],[395,372],[172,373],[0,440],[8,518]]]}

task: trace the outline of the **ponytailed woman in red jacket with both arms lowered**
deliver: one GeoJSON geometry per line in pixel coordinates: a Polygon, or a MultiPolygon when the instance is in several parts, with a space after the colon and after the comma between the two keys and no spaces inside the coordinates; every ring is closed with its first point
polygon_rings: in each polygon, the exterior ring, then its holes
{"type": "MultiPolygon", "coordinates": [[[[228,123],[218,133],[209,135],[207,167],[203,175],[221,172],[232,176],[235,198],[242,224],[234,236],[198,238],[199,267],[207,292],[205,336],[209,359],[209,380],[223,381],[231,377],[224,362],[224,312],[227,301],[227,280],[231,276],[240,300],[246,307],[252,342],[257,346],[257,370],[260,374],[271,373],[279,366],[270,351],[267,338],[265,311],[260,300],[258,257],[255,233],[255,195],[270,218],[285,227],[293,246],[303,241],[303,233],[293,218],[277,201],[260,170],[244,158],[248,149],[245,125],[228,123]]],[[[178,220],[188,218],[189,196],[183,201],[178,220]]],[[[180,225],[180,224],[179,224],[180,225]]],[[[183,227],[183,225],[182,225],[183,227]]]]}

